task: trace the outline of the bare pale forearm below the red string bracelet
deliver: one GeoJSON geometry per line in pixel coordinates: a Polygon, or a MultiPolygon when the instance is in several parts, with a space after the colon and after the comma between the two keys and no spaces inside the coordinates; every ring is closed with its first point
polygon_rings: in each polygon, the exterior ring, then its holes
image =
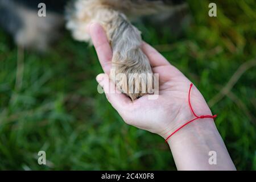
{"type": "Polygon", "coordinates": [[[179,170],[236,170],[212,118],[189,123],[168,144],[179,170]],[[216,164],[209,163],[210,151],[216,152],[216,164]]]}

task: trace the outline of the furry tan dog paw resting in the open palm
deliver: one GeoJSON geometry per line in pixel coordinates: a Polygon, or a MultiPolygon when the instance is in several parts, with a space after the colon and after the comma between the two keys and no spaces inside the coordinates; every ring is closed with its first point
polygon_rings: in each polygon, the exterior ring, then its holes
{"type": "Polygon", "coordinates": [[[110,78],[132,101],[151,94],[154,89],[154,74],[141,48],[127,51],[125,57],[120,52],[115,52],[110,78]]]}

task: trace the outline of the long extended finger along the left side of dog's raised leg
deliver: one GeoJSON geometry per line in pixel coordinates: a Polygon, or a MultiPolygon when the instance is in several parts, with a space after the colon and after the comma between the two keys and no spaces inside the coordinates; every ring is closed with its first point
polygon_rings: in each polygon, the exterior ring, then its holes
{"type": "Polygon", "coordinates": [[[112,48],[110,47],[106,33],[99,23],[90,24],[88,31],[92,38],[102,69],[109,75],[112,60],[112,48]]]}

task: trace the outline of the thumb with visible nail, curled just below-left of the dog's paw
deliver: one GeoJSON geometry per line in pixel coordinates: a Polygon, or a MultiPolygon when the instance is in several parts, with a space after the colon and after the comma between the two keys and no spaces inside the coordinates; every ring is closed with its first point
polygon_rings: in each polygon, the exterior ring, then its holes
{"type": "MultiPolygon", "coordinates": [[[[102,86],[106,98],[112,104],[112,106],[118,111],[121,112],[126,106],[131,102],[130,98],[122,94],[117,88],[115,84],[109,79],[109,76],[105,73],[101,73],[96,77],[96,80],[100,86],[102,86]]],[[[98,89],[98,92],[100,90],[98,89]]]]}

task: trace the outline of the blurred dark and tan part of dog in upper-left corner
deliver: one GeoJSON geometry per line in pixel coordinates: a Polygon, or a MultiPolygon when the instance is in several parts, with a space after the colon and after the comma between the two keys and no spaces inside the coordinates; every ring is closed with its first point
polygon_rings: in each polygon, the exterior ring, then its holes
{"type": "MultiPolygon", "coordinates": [[[[56,3],[49,3],[46,18],[38,16],[40,0],[0,0],[0,26],[9,32],[16,44],[37,51],[46,51],[56,38],[64,18],[56,3]],[[51,7],[51,8],[50,8],[51,7]]],[[[58,2],[64,9],[64,1],[58,2]],[[62,2],[62,4],[61,4],[62,2]]]]}

